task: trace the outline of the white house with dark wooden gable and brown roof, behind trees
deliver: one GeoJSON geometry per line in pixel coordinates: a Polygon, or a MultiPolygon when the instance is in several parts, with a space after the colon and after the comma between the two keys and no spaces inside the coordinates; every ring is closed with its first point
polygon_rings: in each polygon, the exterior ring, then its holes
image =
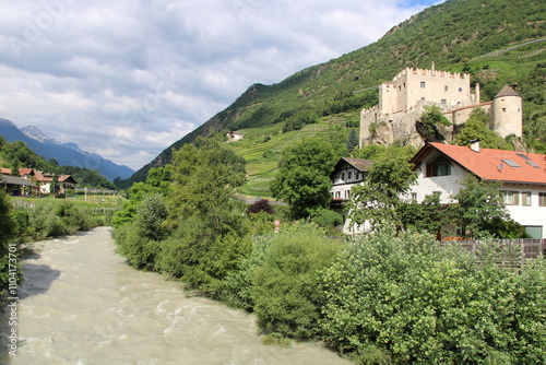
{"type": "Polygon", "coordinates": [[[343,217],[343,233],[345,234],[361,232],[357,225],[352,224],[347,219],[348,211],[345,204],[351,199],[351,189],[356,185],[364,184],[372,164],[373,162],[369,160],[342,157],[330,175],[332,179],[332,189],[330,190],[332,202],[330,208],[343,217]]]}

